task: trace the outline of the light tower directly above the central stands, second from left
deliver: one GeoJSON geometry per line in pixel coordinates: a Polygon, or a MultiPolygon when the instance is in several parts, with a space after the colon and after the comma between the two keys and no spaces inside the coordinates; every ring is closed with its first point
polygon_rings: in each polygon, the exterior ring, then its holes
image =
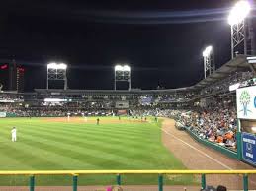
{"type": "Polygon", "coordinates": [[[118,81],[126,81],[129,85],[129,91],[131,90],[131,67],[128,64],[125,65],[116,65],[115,68],[115,82],[114,90],[117,90],[118,81]]]}

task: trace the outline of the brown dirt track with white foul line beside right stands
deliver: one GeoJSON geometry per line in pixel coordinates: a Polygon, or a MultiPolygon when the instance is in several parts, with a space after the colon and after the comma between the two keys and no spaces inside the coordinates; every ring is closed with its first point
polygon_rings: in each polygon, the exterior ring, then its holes
{"type": "MultiPolygon", "coordinates": [[[[206,147],[185,131],[175,128],[175,121],[165,118],[162,127],[162,141],[164,146],[171,151],[174,156],[180,159],[189,169],[255,169],[254,167],[230,159],[223,154],[206,147]]],[[[240,175],[209,175],[207,176],[208,185],[226,185],[228,189],[242,189],[242,176],[240,175]]],[[[249,177],[249,188],[256,189],[256,176],[249,177]]]]}

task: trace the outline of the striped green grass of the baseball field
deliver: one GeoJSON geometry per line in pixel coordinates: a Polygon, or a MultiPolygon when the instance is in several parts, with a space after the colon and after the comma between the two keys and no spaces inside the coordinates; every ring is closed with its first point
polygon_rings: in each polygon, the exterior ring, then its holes
{"type": "MultiPolygon", "coordinates": [[[[71,118],[72,119],[72,118],[71,118]]],[[[96,118],[89,118],[95,120],[96,118]]],[[[101,122],[113,120],[102,117],[101,122]]],[[[52,122],[0,119],[0,170],[186,169],[161,142],[160,124],[52,122]],[[11,129],[17,127],[17,142],[11,129]]],[[[70,176],[37,176],[36,185],[71,185],[70,176]]],[[[79,185],[115,184],[115,175],[79,176],[79,185]]],[[[157,184],[155,175],[122,176],[124,184],[157,184]]],[[[165,177],[167,184],[195,183],[192,175],[165,177]]],[[[0,176],[1,185],[27,185],[28,176],[0,176]]]]}

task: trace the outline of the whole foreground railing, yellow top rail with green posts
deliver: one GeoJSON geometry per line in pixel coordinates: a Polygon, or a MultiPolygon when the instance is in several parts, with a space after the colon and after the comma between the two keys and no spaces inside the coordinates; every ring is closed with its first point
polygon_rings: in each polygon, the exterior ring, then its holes
{"type": "Polygon", "coordinates": [[[248,175],[256,174],[256,170],[42,170],[42,171],[0,171],[3,175],[29,175],[30,191],[35,190],[35,175],[72,175],[73,191],[77,191],[79,175],[88,174],[116,174],[118,185],[122,183],[124,174],[156,174],[158,175],[158,190],[163,191],[163,175],[165,174],[200,174],[201,187],[206,188],[208,174],[239,174],[243,175],[243,190],[248,191],[248,175]]]}

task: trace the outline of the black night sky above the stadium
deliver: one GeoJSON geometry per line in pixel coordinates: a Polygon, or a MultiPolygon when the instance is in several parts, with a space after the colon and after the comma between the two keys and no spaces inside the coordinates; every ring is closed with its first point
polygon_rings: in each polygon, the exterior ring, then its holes
{"type": "Polygon", "coordinates": [[[203,49],[230,59],[233,0],[0,2],[0,56],[26,64],[26,89],[45,88],[46,63],[69,64],[70,89],[112,89],[115,63],[132,66],[133,88],[191,86],[203,49]],[[175,3],[174,3],[175,2],[175,3]]]}

